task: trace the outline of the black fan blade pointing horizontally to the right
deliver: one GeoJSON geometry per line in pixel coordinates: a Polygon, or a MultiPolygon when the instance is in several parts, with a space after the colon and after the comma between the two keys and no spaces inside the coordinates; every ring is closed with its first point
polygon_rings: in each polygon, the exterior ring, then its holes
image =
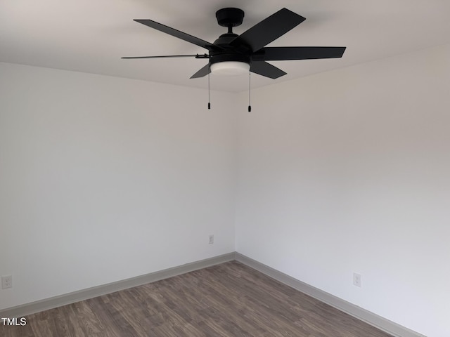
{"type": "Polygon", "coordinates": [[[252,55],[254,60],[311,60],[341,58],[346,47],[266,47],[252,55]]]}

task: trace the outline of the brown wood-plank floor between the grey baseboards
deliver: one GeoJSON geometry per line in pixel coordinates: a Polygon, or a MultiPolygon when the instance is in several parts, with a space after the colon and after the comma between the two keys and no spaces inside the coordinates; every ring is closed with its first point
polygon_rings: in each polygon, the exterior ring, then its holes
{"type": "Polygon", "coordinates": [[[390,336],[236,261],[26,318],[0,336],[390,336]]]}

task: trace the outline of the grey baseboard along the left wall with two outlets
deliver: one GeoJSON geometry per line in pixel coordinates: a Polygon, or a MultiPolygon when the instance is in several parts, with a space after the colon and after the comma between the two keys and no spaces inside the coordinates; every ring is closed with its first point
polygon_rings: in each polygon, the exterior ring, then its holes
{"type": "Polygon", "coordinates": [[[0,317],[23,317],[31,315],[36,312],[49,310],[60,307],[61,305],[68,305],[70,303],[79,302],[80,300],[87,300],[97,296],[102,296],[107,293],[114,293],[124,289],[129,289],[134,286],[141,286],[160,279],[167,279],[176,275],[181,275],[186,272],[193,272],[194,270],[210,267],[212,265],[218,265],[220,263],[234,260],[235,253],[227,253],[221,256],[214,256],[214,258],[207,258],[205,260],[195,261],[193,263],[186,263],[178,267],[172,267],[158,272],[150,272],[150,274],[133,277],[131,279],[124,279],[122,281],[113,282],[109,284],[103,284],[101,286],[94,286],[89,289],[83,289],[72,293],[66,293],[61,296],[55,296],[52,298],[46,298],[44,300],[38,300],[36,302],[27,303],[24,305],[18,305],[13,308],[7,308],[0,310],[0,317]]]}

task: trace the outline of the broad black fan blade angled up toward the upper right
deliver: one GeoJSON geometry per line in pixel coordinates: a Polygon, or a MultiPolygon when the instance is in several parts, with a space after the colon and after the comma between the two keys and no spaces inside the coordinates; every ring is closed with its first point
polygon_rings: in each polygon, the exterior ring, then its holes
{"type": "Polygon", "coordinates": [[[283,8],[240,34],[230,45],[236,48],[249,46],[252,51],[259,51],[304,20],[302,16],[283,8]]]}

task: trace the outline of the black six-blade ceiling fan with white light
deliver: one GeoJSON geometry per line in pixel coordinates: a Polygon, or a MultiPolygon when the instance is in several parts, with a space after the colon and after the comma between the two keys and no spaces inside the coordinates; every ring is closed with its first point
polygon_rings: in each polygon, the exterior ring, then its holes
{"type": "Polygon", "coordinates": [[[305,18],[286,8],[270,15],[257,23],[243,34],[234,34],[233,27],[242,24],[244,12],[239,8],[222,8],[216,12],[217,22],[222,27],[228,27],[228,32],[221,34],[219,39],[210,42],[180,32],[172,27],[162,25],[153,20],[134,20],[143,25],[158,29],[160,32],[172,35],[184,41],[207,49],[208,53],[195,55],[161,55],[136,56],[136,58],[205,58],[207,65],[191,76],[191,79],[205,77],[207,74],[240,74],[254,72],[255,74],[277,79],[286,74],[283,70],[266,61],[278,60],[310,60],[320,58],[340,58],[346,47],[266,47],[283,34],[300,25],[305,18]]]}

